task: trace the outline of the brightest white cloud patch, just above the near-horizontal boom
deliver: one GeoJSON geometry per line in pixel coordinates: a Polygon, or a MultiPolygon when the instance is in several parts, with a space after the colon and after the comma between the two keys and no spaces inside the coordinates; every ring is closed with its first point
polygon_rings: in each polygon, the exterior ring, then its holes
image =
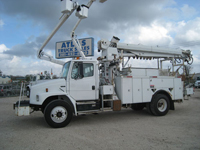
{"type": "MultiPolygon", "coordinates": [[[[126,43],[142,44],[149,46],[163,46],[170,45],[173,41],[170,36],[169,29],[171,25],[169,23],[161,24],[157,21],[153,22],[149,26],[134,26],[124,30],[121,36],[126,43]]],[[[121,37],[119,37],[121,38],[121,37]]]]}

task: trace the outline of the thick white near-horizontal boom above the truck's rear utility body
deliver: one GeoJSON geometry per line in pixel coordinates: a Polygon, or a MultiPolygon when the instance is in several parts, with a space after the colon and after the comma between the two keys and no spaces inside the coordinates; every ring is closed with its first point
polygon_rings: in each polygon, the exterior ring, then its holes
{"type": "MultiPolygon", "coordinates": [[[[118,43],[119,38],[113,37],[113,39],[111,41],[108,41],[105,39],[100,40],[98,42],[98,49],[103,50],[103,51],[104,50],[108,51],[108,49],[111,47],[116,48],[119,56],[121,57],[133,57],[133,58],[140,58],[140,59],[163,58],[164,60],[182,59],[184,62],[187,62],[189,65],[191,65],[193,62],[193,58],[192,58],[192,54],[190,50],[118,43]]],[[[108,54],[108,55],[114,55],[114,53],[108,54]]]]}

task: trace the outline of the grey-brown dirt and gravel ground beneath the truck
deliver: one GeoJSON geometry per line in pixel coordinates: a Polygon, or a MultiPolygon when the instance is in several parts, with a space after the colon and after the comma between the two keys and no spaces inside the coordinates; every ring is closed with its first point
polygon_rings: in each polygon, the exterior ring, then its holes
{"type": "Polygon", "coordinates": [[[163,117],[126,109],[74,116],[60,129],[50,128],[41,112],[15,116],[17,100],[0,98],[1,150],[200,150],[199,89],[163,117]]]}

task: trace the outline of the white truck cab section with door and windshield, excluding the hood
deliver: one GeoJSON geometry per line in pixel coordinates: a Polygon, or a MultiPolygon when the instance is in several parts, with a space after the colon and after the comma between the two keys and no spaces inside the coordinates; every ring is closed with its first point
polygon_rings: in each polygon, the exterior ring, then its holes
{"type": "Polygon", "coordinates": [[[99,98],[98,62],[72,60],[64,64],[62,78],[66,80],[67,93],[75,101],[99,98]]]}

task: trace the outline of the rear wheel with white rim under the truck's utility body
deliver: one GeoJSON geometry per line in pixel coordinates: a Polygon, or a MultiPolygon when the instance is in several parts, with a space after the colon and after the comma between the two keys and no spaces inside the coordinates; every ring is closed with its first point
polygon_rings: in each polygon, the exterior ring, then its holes
{"type": "Polygon", "coordinates": [[[164,116],[168,113],[170,108],[170,102],[166,95],[158,94],[156,95],[151,103],[150,109],[153,115],[155,116],[164,116]]]}

